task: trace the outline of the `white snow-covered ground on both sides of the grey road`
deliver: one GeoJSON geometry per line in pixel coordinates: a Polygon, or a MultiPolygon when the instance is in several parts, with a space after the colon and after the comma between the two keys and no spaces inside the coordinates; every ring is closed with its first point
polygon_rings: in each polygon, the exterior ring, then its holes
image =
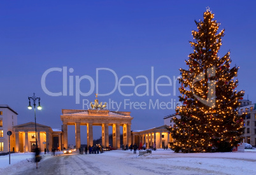
{"type": "MultiPolygon", "coordinates": [[[[59,154],[62,154],[59,152],[59,154]]],[[[50,161],[53,158],[50,154],[43,155],[39,164],[50,161]]],[[[244,153],[174,153],[171,150],[152,151],[152,154],[143,156],[134,155],[133,151],[107,151],[99,155],[61,155],[58,158],[71,156],[72,167],[76,165],[76,159],[92,162],[98,170],[108,172],[106,174],[256,174],[256,150],[245,150],[244,153]]],[[[33,153],[11,154],[0,156],[1,174],[15,174],[22,169],[34,168],[33,153]],[[11,173],[10,173],[11,172],[11,173]]],[[[57,159],[56,159],[57,160],[57,159]]],[[[60,169],[66,166],[58,159],[60,169]]],[[[76,167],[79,171],[79,167],[76,167]]],[[[73,170],[72,170],[73,171],[73,170]]],[[[87,169],[88,171],[88,169],[87,169]]],[[[68,171],[70,172],[70,171],[68,171]]],[[[59,172],[59,174],[69,174],[59,172]]],[[[76,174],[80,174],[76,172],[76,174]]],[[[75,172],[74,172],[75,174],[75,172]]],[[[95,171],[89,174],[96,174],[95,171]]],[[[99,173],[101,174],[101,173],[99,173]]]]}

